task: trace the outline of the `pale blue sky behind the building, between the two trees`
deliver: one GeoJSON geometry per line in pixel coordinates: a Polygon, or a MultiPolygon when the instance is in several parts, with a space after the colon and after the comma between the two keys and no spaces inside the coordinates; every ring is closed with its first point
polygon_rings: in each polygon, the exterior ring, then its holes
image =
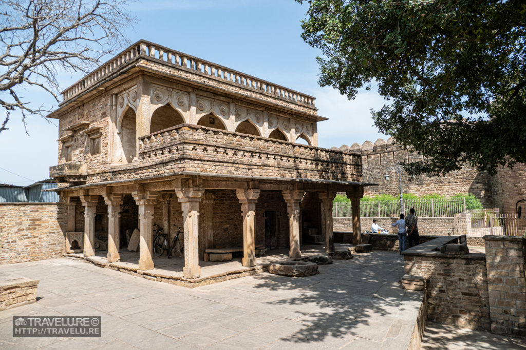
{"type": "MultiPolygon", "coordinates": [[[[143,1],[131,5],[131,10],[139,18],[128,32],[131,42],[153,41],[316,97],[319,115],[329,118],[318,124],[320,147],[387,139],[378,133],[369,111],[385,103],[376,91],[360,90],[349,101],[337,90],[318,86],[315,58],[319,51],[300,38],[306,4],[293,0],[166,0],[143,1]]],[[[64,73],[61,88],[81,77],[80,73],[64,73]]],[[[48,108],[56,105],[52,97],[37,90],[25,91],[24,96],[48,108]]],[[[57,164],[57,126],[28,118],[27,136],[20,115],[13,113],[8,127],[0,134],[0,167],[28,179],[0,168],[0,183],[27,185],[47,178],[49,166],[57,164]]]]}

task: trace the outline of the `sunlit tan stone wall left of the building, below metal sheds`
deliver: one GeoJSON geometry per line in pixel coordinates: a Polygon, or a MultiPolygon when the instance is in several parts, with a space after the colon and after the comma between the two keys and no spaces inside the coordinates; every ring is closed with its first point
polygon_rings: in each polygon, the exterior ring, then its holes
{"type": "Polygon", "coordinates": [[[61,203],[0,203],[0,264],[58,258],[64,253],[61,203]]]}

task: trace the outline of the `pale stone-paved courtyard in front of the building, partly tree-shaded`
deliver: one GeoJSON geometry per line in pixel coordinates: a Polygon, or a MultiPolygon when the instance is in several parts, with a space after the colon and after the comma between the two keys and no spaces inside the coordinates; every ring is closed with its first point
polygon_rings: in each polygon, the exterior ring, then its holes
{"type": "Polygon", "coordinates": [[[83,260],[4,265],[0,277],[41,283],[36,303],[0,312],[0,348],[407,349],[423,294],[401,289],[400,254],[375,251],[319,270],[188,289],[83,260]],[[13,338],[13,315],[100,315],[103,336],[13,338]]]}

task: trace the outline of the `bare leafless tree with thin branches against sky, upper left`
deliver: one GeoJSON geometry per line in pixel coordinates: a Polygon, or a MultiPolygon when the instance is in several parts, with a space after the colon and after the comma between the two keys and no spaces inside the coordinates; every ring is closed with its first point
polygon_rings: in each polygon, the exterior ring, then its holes
{"type": "Polygon", "coordinates": [[[37,87],[59,102],[59,72],[87,73],[127,43],[131,1],[0,0],[0,106],[6,112],[0,133],[11,111],[22,112],[24,125],[27,115],[49,112],[26,101],[21,90],[37,87]]]}

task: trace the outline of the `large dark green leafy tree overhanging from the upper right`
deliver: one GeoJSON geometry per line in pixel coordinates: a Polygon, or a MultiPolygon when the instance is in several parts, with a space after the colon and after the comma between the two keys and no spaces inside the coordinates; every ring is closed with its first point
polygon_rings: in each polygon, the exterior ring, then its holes
{"type": "Polygon", "coordinates": [[[424,156],[406,171],[494,174],[526,161],[524,1],[307,2],[319,83],[349,99],[378,83],[391,103],[372,112],[376,126],[424,156]]]}

